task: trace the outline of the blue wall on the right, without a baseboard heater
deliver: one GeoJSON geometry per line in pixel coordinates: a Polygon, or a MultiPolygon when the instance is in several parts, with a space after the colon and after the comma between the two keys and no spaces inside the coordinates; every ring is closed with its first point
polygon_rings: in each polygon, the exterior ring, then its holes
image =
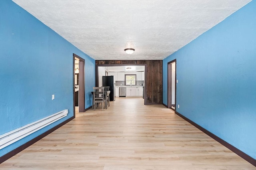
{"type": "Polygon", "coordinates": [[[177,59],[178,113],[256,158],[256,1],[163,60],[177,59]]]}

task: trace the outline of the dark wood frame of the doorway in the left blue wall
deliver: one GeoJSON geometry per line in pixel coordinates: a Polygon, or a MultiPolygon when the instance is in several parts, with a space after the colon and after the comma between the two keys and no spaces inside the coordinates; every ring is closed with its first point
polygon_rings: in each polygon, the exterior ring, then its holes
{"type": "Polygon", "coordinates": [[[75,60],[79,61],[79,77],[78,77],[78,85],[79,85],[79,92],[78,92],[78,111],[84,112],[85,111],[85,94],[84,94],[84,59],[79,57],[76,54],[73,54],[73,74],[74,74],[74,83],[73,83],[73,97],[74,97],[74,114],[75,114],[75,60]]]}

